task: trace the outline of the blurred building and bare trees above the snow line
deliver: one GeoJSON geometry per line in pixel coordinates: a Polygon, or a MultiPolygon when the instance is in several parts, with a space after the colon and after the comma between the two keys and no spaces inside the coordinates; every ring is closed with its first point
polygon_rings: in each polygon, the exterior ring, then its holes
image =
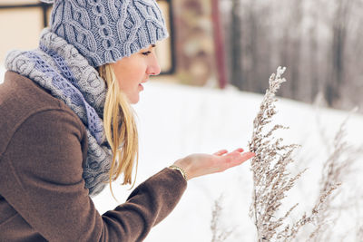
{"type": "MultiPolygon", "coordinates": [[[[160,0],[171,38],[158,80],[263,93],[286,66],[280,95],[349,110],[363,102],[362,0],[160,0]],[[319,95],[320,94],[320,95],[319,95]]],[[[51,5],[0,0],[0,64],[37,46],[51,5]]]]}

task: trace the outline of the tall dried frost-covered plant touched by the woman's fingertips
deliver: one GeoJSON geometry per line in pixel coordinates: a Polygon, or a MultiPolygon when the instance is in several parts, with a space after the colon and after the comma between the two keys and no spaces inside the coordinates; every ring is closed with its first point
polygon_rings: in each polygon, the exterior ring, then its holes
{"type": "Polygon", "coordinates": [[[291,211],[298,204],[284,213],[280,211],[282,199],[287,196],[286,193],[305,171],[302,170],[295,176],[290,175],[287,167],[294,162],[292,153],[299,146],[282,144],[283,139],[275,137],[276,131],[288,128],[272,123],[272,117],[277,112],[275,93],[280,89],[280,84],[286,82],[281,77],[285,69],[279,67],[277,73],[270,76],[270,87],[266,91],[260,104],[260,111],[253,121],[253,133],[249,143],[250,151],[256,154],[251,160],[253,193],[250,217],[254,221],[259,241],[291,241],[297,236],[301,227],[316,220],[331,191],[336,189],[336,185],[331,185],[320,193],[319,201],[309,215],[305,213],[292,224],[288,224],[287,220],[291,211]]]}

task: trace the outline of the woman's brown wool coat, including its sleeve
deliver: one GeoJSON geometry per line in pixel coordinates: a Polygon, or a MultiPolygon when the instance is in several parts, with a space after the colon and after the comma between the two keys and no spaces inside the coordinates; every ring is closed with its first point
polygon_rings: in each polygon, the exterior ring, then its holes
{"type": "Polygon", "coordinates": [[[86,154],[86,131],[74,112],[31,80],[5,73],[0,241],[142,241],[186,189],[178,170],[162,169],[101,216],[84,189],[86,154]]]}

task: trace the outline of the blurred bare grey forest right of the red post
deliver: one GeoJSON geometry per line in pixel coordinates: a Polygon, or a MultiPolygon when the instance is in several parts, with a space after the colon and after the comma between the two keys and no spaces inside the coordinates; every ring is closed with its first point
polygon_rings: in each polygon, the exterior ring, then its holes
{"type": "Polygon", "coordinates": [[[282,96],[363,104],[362,0],[231,0],[230,9],[230,76],[240,90],[263,93],[271,67],[285,65],[282,96]]]}

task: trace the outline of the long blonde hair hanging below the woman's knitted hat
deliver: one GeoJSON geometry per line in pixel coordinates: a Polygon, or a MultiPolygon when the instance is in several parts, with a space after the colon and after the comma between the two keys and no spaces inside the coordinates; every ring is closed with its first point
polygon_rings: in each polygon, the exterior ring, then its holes
{"type": "MultiPolygon", "coordinates": [[[[112,182],[123,173],[123,185],[132,183],[132,169],[139,160],[138,132],[134,112],[126,95],[120,90],[113,66],[110,63],[98,68],[107,85],[106,101],[103,111],[103,126],[106,138],[113,150],[113,162],[109,174],[112,182]]],[[[133,187],[134,183],[132,184],[133,187]]],[[[113,196],[114,197],[114,196],[113,196]]]]}

